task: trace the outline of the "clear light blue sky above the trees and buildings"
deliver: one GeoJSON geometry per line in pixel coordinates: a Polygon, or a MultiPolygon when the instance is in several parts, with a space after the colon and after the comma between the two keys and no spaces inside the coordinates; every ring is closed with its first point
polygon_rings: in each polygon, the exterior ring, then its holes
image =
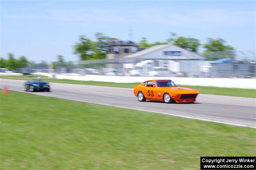
{"type": "MultiPolygon", "coordinates": [[[[9,52],[32,61],[77,61],[80,34],[96,32],[133,41],[179,36],[223,38],[237,50],[255,53],[255,1],[1,1],[1,57],[9,52]]],[[[204,49],[201,48],[200,52],[204,49]]]]}

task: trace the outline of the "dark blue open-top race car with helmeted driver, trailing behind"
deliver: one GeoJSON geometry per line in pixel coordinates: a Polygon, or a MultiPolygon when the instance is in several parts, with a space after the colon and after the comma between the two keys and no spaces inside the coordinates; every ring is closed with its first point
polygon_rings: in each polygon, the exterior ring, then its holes
{"type": "Polygon", "coordinates": [[[50,83],[43,82],[42,78],[39,76],[30,76],[31,80],[25,82],[24,90],[25,91],[50,91],[50,83]],[[35,79],[33,79],[35,78],[35,79]]]}

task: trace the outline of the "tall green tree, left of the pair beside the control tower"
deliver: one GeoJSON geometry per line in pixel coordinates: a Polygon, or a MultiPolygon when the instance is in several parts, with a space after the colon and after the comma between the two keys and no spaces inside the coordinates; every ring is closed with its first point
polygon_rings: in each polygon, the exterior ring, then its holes
{"type": "Polygon", "coordinates": [[[78,55],[81,60],[91,60],[92,58],[92,49],[93,42],[86,38],[85,35],[80,35],[79,42],[74,45],[74,54],[78,55]]]}

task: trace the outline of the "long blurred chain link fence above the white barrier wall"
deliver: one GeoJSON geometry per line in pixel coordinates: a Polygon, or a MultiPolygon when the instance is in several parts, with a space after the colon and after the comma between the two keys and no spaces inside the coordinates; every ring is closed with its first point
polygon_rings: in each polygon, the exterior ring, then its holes
{"type": "Polygon", "coordinates": [[[130,58],[87,60],[79,62],[40,63],[14,70],[17,73],[55,73],[66,75],[167,76],[252,78],[256,64],[214,63],[201,60],[145,60],[130,58]]]}

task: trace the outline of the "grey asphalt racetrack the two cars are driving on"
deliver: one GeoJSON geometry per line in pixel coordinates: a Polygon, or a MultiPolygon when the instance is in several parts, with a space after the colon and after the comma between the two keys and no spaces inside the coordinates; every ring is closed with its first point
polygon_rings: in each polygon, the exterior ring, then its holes
{"type": "MultiPolygon", "coordinates": [[[[0,79],[1,88],[23,91],[23,80],[0,79]]],[[[195,103],[139,102],[133,89],[51,83],[51,92],[26,92],[86,103],[158,112],[185,118],[256,127],[256,99],[199,94],[195,103]]]]}

